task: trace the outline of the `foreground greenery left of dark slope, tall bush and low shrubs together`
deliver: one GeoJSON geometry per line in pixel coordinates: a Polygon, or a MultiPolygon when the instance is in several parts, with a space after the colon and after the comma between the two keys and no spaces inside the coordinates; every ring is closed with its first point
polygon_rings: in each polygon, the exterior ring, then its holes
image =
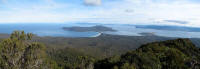
{"type": "Polygon", "coordinates": [[[0,42],[0,69],[88,69],[95,59],[72,48],[56,50],[32,40],[33,34],[14,31],[0,42]]]}

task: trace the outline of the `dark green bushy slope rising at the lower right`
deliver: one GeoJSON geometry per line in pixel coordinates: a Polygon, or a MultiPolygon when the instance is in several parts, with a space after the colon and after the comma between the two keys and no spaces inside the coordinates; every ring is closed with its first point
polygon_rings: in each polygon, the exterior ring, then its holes
{"type": "Polygon", "coordinates": [[[199,53],[189,39],[154,42],[98,61],[95,69],[200,69],[199,53]]]}

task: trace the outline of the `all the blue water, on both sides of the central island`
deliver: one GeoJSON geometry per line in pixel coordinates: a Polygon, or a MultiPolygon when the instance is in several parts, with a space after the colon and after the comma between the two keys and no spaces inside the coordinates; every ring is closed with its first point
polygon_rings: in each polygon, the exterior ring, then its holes
{"type": "MultiPolygon", "coordinates": [[[[99,24],[87,24],[87,23],[35,23],[35,24],[0,24],[0,33],[10,34],[14,30],[24,30],[25,32],[31,32],[38,36],[53,36],[53,37],[96,37],[98,32],[74,32],[65,31],[62,27],[72,26],[95,26],[99,24]]],[[[158,36],[166,37],[180,37],[180,38],[200,38],[200,32],[187,32],[187,31],[167,31],[167,30],[155,30],[155,29],[142,29],[136,28],[134,25],[121,25],[121,24],[106,24],[104,26],[111,27],[117,32],[103,32],[107,34],[115,35],[129,35],[129,36],[141,36],[139,33],[155,33],[158,36]]]]}

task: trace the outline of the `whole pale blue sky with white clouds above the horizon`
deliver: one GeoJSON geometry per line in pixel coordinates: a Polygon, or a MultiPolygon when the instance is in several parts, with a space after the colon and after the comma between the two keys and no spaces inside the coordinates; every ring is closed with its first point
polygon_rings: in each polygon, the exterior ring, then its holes
{"type": "Polygon", "coordinates": [[[200,0],[0,0],[0,23],[70,22],[200,27],[200,0]]]}

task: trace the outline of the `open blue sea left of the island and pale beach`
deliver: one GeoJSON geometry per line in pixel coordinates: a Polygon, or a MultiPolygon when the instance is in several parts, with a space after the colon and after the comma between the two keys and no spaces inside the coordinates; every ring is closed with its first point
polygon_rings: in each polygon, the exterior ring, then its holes
{"type": "Polygon", "coordinates": [[[24,30],[38,36],[54,37],[95,37],[98,32],[65,31],[62,27],[80,26],[79,24],[0,24],[0,33],[10,34],[15,30],[24,30]]]}

